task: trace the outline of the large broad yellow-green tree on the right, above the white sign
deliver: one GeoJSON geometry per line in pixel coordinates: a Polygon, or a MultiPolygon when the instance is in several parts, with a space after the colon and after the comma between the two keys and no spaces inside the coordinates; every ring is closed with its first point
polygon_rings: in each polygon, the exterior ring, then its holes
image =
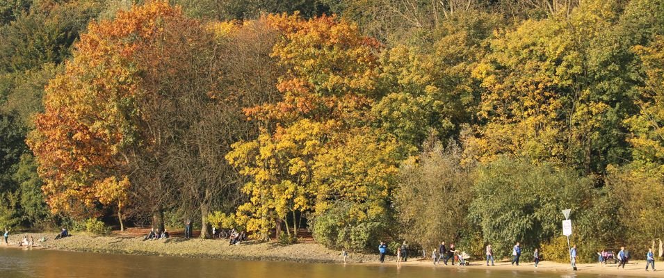
{"type": "Polygon", "coordinates": [[[487,90],[478,112],[486,124],[468,148],[476,158],[528,156],[601,174],[629,157],[622,119],[633,113],[638,70],[630,67],[633,33],[612,29],[619,9],[590,1],[569,17],[529,20],[492,42],[473,73],[487,90]]]}

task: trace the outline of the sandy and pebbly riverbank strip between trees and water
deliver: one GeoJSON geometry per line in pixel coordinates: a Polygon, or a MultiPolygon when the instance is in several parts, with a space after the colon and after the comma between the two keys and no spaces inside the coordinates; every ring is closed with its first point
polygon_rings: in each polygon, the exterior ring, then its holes
{"type": "MultiPolygon", "coordinates": [[[[17,248],[17,243],[24,234],[10,236],[9,247],[17,248]]],[[[46,242],[38,243],[32,249],[64,250],[75,252],[97,252],[113,254],[135,254],[152,256],[182,256],[194,258],[220,258],[250,261],[294,261],[300,263],[343,263],[340,252],[329,250],[317,243],[298,243],[293,245],[279,245],[275,242],[257,243],[247,242],[240,245],[229,245],[227,240],[202,240],[200,238],[170,238],[168,240],[145,240],[142,236],[93,236],[88,234],[74,234],[67,238],[54,240],[55,234],[29,234],[35,241],[44,236],[46,242]]],[[[7,247],[7,245],[0,245],[7,247]]],[[[21,247],[23,248],[23,247],[21,247]]],[[[532,262],[512,266],[509,262],[496,262],[495,266],[486,266],[483,261],[471,261],[471,265],[460,267],[458,265],[433,265],[429,259],[411,259],[408,262],[397,264],[393,256],[388,256],[384,264],[378,262],[374,254],[350,253],[348,263],[357,265],[384,265],[386,267],[403,268],[469,268],[482,270],[505,270],[519,272],[557,272],[572,273],[566,263],[542,261],[535,268],[532,262]]],[[[578,263],[579,274],[621,275],[632,277],[664,277],[664,263],[656,262],[662,270],[646,272],[645,261],[630,261],[624,269],[617,269],[617,265],[601,266],[599,263],[578,263]]]]}

